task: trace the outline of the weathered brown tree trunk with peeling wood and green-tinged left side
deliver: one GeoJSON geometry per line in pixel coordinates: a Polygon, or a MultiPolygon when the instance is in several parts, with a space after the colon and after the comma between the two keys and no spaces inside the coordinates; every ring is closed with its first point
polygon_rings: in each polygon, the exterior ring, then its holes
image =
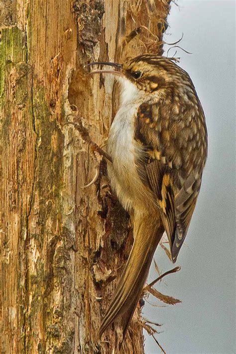
{"type": "MultiPolygon", "coordinates": [[[[91,60],[162,53],[169,0],[0,1],[1,353],[118,353],[98,328],[132,244],[127,213],[73,126],[108,137],[118,107],[91,60]],[[133,31],[136,28],[136,31],[133,31]],[[131,32],[133,31],[133,32],[131,32]]],[[[120,353],[143,353],[137,307],[120,353]]]]}

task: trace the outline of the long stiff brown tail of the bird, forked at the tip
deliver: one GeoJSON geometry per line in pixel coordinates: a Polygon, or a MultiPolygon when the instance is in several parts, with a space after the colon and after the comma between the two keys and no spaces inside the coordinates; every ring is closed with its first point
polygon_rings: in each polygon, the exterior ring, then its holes
{"type": "Polygon", "coordinates": [[[139,220],[134,220],[134,243],[113,300],[103,319],[100,336],[110,324],[121,317],[124,338],[163,232],[161,220],[153,220],[153,216],[142,216],[139,220]]]}

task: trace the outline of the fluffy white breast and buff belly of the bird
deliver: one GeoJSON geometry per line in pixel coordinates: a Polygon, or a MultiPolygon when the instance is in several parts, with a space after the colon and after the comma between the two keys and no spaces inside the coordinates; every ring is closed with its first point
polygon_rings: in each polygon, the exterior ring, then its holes
{"type": "Polygon", "coordinates": [[[121,105],[108,139],[108,153],[113,159],[113,164],[108,162],[108,175],[112,188],[126,210],[142,209],[144,194],[147,195],[147,188],[141,182],[135,165],[137,157],[142,154],[142,147],[134,140],[134,120],[141,104],[138,94],[134,85],[124,83],[121,105]]]}

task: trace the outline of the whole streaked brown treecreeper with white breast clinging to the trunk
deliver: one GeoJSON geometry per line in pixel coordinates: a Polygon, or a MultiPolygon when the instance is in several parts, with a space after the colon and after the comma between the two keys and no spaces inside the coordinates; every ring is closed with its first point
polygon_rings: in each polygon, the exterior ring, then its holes
{"type": "MultiPolygon", "coordinates": [[[[91,63],[96,64],[96,63],[91,63]]],[[[176,262],[189,228],[207,158],[205,116],[186,71],[154,54],[115,70],[120,106],[109,133],[108,175],[133,220],[134,243],[100,334],[118,317],[123,338],[139,300],[154,251],[166,231],[176,262]]]]}

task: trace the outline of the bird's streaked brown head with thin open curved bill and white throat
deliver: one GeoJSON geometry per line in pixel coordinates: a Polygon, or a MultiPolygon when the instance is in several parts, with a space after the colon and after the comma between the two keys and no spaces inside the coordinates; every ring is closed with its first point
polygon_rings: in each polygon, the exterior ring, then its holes
{"type": "Polygon", "coordinates": [[[94,70],[91,74],[110,73],[118,77],[122,85],[121,96],[125,100],[143,101],[165,99],[172,89],[192,86],[188,74],[172,60],[154,54],[143,54],[125,61],[123,64],[93,62],[89,65],[113,66],[114,70],[94,70]]]}

